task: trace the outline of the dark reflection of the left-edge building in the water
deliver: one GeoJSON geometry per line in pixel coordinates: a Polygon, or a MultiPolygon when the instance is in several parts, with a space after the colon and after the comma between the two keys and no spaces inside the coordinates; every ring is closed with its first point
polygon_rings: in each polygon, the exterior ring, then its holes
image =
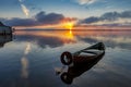
{"type": "Polygon", "coordinates": [[[12,34],[9,35],[0,35],[0,48],[2,48],[4,46],[4,44],[12,41],[12,34]]]}

